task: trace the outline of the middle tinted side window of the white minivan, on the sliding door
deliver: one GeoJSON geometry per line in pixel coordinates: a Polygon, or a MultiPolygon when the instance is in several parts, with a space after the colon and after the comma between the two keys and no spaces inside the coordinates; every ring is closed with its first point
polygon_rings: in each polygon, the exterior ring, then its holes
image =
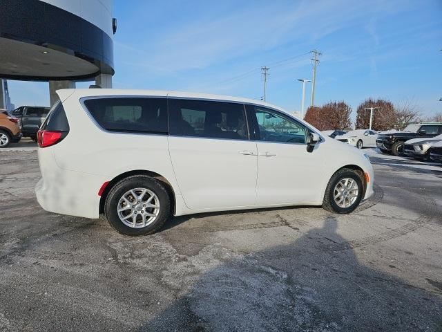
{"type": "Polygon", "coordinates": [[[169,99],[169,115],[172,135],[249,139],[243,104],[169,99]]]}

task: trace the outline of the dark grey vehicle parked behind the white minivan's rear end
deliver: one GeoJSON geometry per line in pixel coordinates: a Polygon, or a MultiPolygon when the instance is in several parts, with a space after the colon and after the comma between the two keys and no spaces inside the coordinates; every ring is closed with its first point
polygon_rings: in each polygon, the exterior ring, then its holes
{"type": "Polygon", "coordinates": [[[23,137],[37,140],[37,131],[48,115],[49,107],[21,106],[12,111],[12,115],[20,120],[23,137]]]}

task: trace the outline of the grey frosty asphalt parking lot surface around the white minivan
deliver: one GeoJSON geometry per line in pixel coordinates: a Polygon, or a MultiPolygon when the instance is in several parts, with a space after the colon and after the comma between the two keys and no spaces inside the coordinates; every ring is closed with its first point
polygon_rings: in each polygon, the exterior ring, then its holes
{"type": "Polygon", "coordinates": [[[367,149],[376,193],[352,214],[198,214],[132,238],[42,210],[28,145],[0,151],[0,331],[442,331],[441,166],[367,149]]]}

